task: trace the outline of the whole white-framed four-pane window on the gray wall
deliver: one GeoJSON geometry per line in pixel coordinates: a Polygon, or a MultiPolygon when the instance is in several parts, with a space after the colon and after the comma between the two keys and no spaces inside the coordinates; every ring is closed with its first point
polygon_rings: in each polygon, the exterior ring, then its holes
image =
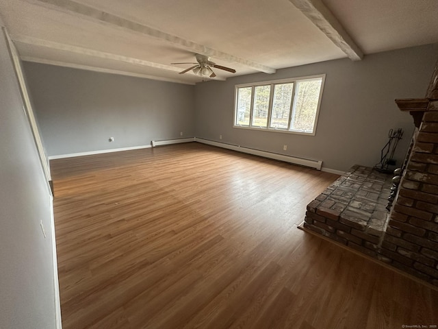
{"type": "Polygon", "coordinates": [[[325,75],[235,86],[234,127],[315,134],[325,75]]]}

